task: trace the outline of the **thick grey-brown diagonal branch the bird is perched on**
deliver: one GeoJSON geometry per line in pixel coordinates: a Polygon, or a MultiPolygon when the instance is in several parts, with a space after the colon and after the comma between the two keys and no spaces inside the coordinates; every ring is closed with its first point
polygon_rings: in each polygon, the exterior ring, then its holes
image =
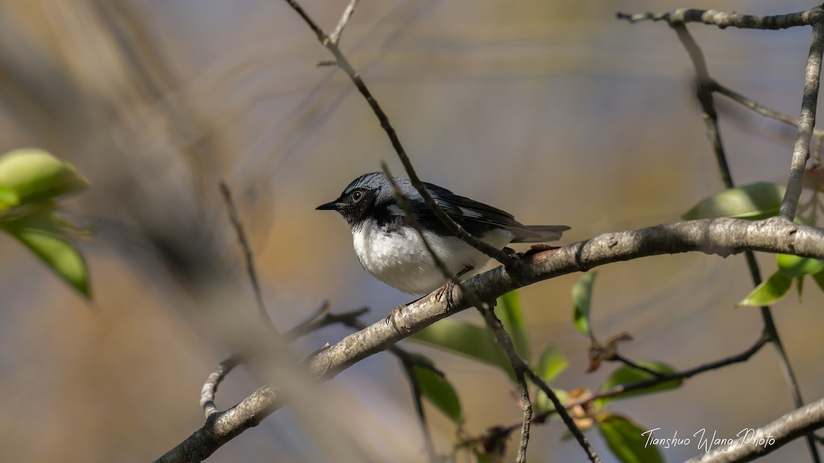
{"type": "MultiPolygon", "coordinates": [[[[492,301],[531,283],[613,262],[691,251],[725,257],[743,250],[824,259],[824,230],[797,225],[778,217],[756,222],[734,218],[677,222],[606,233],[554,251],[531,255],[524,262],[524,269],[517,280],[498,267],[461,282],[461,285],[481,300],[492,301]]],[[[445,302],[431,296],[423,297],[398,313],[394,325],[386,325],[381,320],[365,330],[350,334],[317,353],[307,362],[307,366],[313,376],[322,381],[329,380],[363,358],[386,350],[400,339],[471,306],[460,288],[456,290],[453,304],[452,310],[447,312],[445,302]]],[[[195,448],[206,457],[282,405],[272,387],[262,387],[232,409],[210,416],[204,428],[158,461],[189,461],[195,448]]]]}

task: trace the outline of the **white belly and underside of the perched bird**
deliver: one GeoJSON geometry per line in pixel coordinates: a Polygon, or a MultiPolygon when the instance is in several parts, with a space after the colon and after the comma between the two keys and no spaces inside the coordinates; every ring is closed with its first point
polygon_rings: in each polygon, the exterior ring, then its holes
{"type": "MultiPolygon", "coordinates": [[[[466,267],[480,269],[489,258],[479,250],[455,236],[436,236],[424,232],[429,246],[447,266],[450,275],[457,274],[466,267]]],[[[503,249],[513,240],[513,233],[497,229],[480,237],[498,249],[503,249]]],[[[402,228],[397,232],[386,232],[375,222],[367,221],[363,227],[353,232],[355,253],[363,268],[375,278],[394,288],[412,294],[433,292],[446,283],[446,278],[435,265],[421,241],[418,232],[412,228],[402,228]]],[[[461,279],[469,278],[476,272],[469,272],[461,279]]]]}

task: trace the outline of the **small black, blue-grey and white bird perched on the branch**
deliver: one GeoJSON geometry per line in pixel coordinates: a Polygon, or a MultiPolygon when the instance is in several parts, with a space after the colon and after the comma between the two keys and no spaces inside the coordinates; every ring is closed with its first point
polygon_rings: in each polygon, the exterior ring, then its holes
{"type": "MultiPolygon", "coordinates": [[[[450,275],[462,281],[477,274],[489,262],[487,255],[449,232],[410,180],[392,176],[392,181],[407,199],[426,241],[450,275]]],[[[523,225],[499,208],[459,196],[438,185],[422,183],[453,221],[479,241],[499,250],[509,243],[557,241],[569,230],[565,225],[523,225]]],[[[383,283],[401,292],[419,295],[444,287],[447,279],[419,233],[407,221],[385,173],[359,176],[338,199],[323,203],[316,210],[334,210],[344,217],[363,269],[383,283]]]]}

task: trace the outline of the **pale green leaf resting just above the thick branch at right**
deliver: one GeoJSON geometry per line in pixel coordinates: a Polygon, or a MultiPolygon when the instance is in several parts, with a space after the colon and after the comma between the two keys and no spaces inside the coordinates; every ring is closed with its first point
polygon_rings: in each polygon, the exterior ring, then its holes
{"type": "Polygon", "coordinates": [[[738,188],[725,189],[701,200],[681,217],[684,220],[712,217],[735,217],[759,220],[778,214],[783,185],[759,182],[738,188]]]}

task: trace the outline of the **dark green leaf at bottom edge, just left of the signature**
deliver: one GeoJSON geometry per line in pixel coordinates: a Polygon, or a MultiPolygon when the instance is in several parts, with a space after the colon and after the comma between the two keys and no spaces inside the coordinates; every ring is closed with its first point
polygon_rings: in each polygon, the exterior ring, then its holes
{"type": "Polygon", "coordinates": [[[622,463],[662,463],[658,447],[647,446],[644,429],[620,414],[605,414],[598,419],[598,430],[612,454],[622,463]]]}

